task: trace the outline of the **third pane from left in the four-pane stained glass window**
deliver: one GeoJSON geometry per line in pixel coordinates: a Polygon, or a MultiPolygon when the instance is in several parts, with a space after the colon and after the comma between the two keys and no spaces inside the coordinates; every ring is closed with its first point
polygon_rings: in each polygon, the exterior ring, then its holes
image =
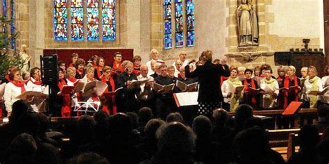
{"type": "Polygon", "coordinates": [[[99,40],[98,0],[87,0],[87,40],[99,40]]]}

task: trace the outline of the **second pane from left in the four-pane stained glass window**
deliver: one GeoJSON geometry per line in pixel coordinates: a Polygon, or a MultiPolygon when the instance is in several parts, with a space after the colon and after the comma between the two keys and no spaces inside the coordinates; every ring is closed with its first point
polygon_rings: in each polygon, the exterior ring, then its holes
{"type": "Polygon", "coordinates": [[[71,41],[83,39],[83,0],[71,0],[71,41]]]}

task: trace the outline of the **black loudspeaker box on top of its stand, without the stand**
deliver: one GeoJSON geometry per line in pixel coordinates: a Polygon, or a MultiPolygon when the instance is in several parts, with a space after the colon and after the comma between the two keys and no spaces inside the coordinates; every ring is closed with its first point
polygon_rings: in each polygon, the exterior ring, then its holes
{"type": "Polygon", "coordinates": [[[57,55],[40,56],[41,76],[44,85],[56,85],[58,82],[57,55]]]}

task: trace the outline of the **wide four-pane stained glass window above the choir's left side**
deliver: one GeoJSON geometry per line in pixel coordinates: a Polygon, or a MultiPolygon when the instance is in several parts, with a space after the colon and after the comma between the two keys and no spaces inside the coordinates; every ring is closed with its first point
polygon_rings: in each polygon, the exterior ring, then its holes
{"type": "Polygon", "coordinates": [[[67,41],[70,36],[71,41],[83,41],[85,37],[87,41],[116,40],[115,5],[115,0],[53,0],[54,39],[67,41]]]}

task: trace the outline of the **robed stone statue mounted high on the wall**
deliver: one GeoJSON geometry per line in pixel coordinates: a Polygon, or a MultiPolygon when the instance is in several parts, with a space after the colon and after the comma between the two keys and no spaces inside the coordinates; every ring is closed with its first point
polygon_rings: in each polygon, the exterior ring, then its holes
{"type": "Polygon", "coordinates": [[[239,46],[258,45],[257,0],[240,0],[236,10],[239,46]]]}

